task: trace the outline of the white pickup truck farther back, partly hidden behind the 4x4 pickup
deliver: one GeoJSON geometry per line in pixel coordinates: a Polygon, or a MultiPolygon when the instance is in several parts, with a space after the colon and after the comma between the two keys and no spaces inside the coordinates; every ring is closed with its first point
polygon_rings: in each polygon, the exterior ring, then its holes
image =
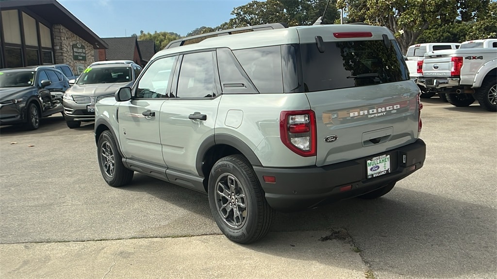
{"type": "MultiPolygon", "coordinates": [[[[437,50],[457,49],[459,45],[459,43],[423,43],[410,46],[406,54],[409,76],[414,81],[423,76],[422,65],[425,53],[437,50]]],[[[419,86],[419,89],[421,89],[421,98],[431,98],[436,94],[435,90],[427,90],[426,87],[419,86]]]]}

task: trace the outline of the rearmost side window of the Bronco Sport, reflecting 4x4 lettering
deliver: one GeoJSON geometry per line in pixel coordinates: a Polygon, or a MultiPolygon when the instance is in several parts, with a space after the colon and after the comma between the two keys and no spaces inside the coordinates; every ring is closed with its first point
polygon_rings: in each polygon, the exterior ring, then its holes
{"type": "Polygon", "coordinates": [[[283,93],[281,47],[233,51],[259,93],[283,93]]]}

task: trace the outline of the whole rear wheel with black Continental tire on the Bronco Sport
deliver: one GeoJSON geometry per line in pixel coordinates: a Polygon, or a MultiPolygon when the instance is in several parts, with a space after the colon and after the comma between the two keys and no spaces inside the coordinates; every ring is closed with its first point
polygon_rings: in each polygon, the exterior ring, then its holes
{"type": "Polygon", "coordinates": [[[227,156],[214,164],[208,194],[214,220],[230,240],[247,244],[267,234],[273,210],[244,156],[227,156]]]}

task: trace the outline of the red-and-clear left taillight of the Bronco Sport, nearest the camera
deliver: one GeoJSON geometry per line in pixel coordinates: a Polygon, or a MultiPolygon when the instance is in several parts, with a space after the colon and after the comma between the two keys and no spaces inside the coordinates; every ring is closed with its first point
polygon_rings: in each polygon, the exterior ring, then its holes
{"type": "Polygon", "coordinates": [[[282,111],[280,138],[293,152],[316,156],[316,115],[312,110],[282,111]]]}

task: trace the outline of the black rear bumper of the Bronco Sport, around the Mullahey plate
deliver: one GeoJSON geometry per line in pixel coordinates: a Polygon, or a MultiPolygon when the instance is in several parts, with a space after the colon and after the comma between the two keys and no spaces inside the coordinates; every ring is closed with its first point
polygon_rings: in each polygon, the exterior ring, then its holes
{"type": "Polygon", "coordinates": [[[397,182],[423,166],[426,145],[417,139],[400,148],[351,161],[323,167],[265,168],[254,166],[268,204],[277,210],[297,211],[315,208],[343,199],[353,198],[397,182]],[[366,178],[366,160],[390,154],[391,173],[366,178]],[[263,176],[274,176],[276,183],[264,182],[263,176]],[[343,186],[348,191],[340,192],[343,186]]]}

